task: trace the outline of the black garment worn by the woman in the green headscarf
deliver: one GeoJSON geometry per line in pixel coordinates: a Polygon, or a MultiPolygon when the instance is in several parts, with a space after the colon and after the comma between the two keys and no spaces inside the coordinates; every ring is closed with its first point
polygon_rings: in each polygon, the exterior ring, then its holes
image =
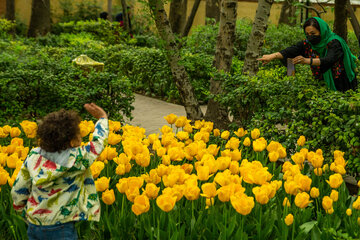
{"type": "Polygon", "coordinates": [[[299,55],[305,58],[320,58],[320,66],[311,66],[311,71],[316,79],[324,81],[323,73],[331,69],[336,90],[342,92],[349,89],[355,90],[357,87],[356,75],[354,80],[349,82],[343,62],[344,51],[342,50],[340,42],[334,39],[328,43],[327,48],[326,56],[320,57],[319,53],[311,48],[309,42],[304,40],[280,51],[280,53],[284,57],[284,63],[287,62],[287,58],[294,58],[299,55]]]}

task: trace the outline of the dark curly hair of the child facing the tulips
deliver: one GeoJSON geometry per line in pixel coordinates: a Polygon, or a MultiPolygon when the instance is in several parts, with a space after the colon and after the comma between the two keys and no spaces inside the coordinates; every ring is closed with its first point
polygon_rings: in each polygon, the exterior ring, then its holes
{"type": "Polygon", "coordinates": [[[81,118],[75,111],[61,109],[46,115],[39,124],[37,137],[40,147],[47,152],[70,148],[71,140],[80,133],[81,118]]]}

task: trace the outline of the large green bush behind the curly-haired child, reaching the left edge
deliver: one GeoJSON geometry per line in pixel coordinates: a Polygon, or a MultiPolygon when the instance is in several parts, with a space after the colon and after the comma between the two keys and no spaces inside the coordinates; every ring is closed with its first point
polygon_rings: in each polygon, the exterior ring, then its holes
{"type": "MultiPolygon", "coordinates": [[[[83,73],[66,48],[0,41],[1,122],[35,119],[60,108],[85,114],[96,102],[112,119],[131,117],[134,99],[126,77],[108,71],[83,73]]],[[[73,54],[73,55],[71,55],[73,54]]]]}

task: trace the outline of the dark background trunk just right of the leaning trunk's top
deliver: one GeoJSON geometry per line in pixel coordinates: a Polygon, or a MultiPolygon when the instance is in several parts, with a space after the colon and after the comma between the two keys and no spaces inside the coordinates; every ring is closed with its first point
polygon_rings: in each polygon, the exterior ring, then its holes
{"type": "Polygon", "coordinates": [[[181,34],[186,21],[187,0],[172,0],[169,20],[173,33],[181,34]]]}

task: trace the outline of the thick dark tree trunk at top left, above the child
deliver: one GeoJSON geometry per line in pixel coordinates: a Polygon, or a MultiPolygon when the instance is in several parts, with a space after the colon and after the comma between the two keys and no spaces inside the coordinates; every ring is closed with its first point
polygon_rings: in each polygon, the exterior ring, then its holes
{"type": "Polygon", "coordinates": [[[50,0],[33,0],[28,37],[44,36],[50,31],[50,0]]]}

